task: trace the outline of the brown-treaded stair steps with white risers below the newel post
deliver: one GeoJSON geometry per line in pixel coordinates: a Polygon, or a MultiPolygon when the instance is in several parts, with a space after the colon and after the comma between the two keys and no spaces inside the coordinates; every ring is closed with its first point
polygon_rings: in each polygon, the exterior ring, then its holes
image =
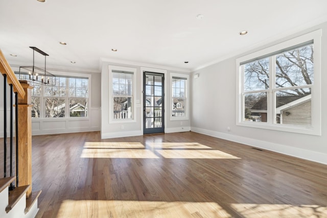
{"type": "Polygon", "coordinates": [[[15,177],[0,179],[0,217],[35,217],[39,210],[37,208],[37,198],[41,191],[32,192],[31,197],[26,199],[26,192],[30,185],[19,186],[9,191],[9,185],[13,181],[15,181],[15,177]]]}

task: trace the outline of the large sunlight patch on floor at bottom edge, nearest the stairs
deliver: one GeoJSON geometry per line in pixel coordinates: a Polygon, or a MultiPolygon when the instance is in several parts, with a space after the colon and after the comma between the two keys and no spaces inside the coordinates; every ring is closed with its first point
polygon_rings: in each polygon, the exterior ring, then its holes
{"type": "Polygon", "coordinates": [[[61,217],[231,217],[215,202],[65,200],[61,217]]]}

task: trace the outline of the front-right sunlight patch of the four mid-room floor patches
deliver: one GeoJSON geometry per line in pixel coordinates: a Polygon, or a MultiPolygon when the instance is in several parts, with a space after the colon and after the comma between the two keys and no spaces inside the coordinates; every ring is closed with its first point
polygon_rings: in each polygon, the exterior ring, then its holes
{"type": "Polygon", "coordinates": [[[241,159],[219,150],[157,150],[164,158],[241,159]]]}

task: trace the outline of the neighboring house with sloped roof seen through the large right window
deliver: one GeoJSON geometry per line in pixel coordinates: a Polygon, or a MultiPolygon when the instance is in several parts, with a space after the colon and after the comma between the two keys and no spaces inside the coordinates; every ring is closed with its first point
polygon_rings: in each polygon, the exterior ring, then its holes
{"type": "MultiPolygon", "coordinates": [[[[267,98],[261,98],[251,108],[253,122],[267,122],[267,98]]],[[[278,96],[276,98],[276,124],[311,125],[311,94],[278,96]]]]}

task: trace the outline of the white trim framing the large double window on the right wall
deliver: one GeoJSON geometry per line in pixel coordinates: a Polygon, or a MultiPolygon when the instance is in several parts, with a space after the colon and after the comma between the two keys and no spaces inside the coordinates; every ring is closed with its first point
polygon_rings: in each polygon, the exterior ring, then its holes
{"type": "MultiPolygon", "coordinates": [[[[321,36],[322,30],[316,30],[314,32],[301,35],[299,37],[287,40],[285,42],[267,47],[258,52],[240,57],[236,59],[236,71],[237,71],[237,96],[236,96],[236,125],[244,127],[254,127],[268,130],[277,130],[301,134],[310,134],[310,135],[321,135],[321,36]],[[312,105],[311,105],[311,117],[312,125],[311,127],[300,127],[295,125],[281,125],[273,124],[272,120],[274,119],[273,113],[273,103],[268,101],[267,108],[267,123],[260,122],[246,122],[243,121],[244,111],[243,111],[243,100],[242,100],[242,90],[243,90],[243,77],[241,74],[240,63],[251,60],[256,57],[261,57],[282,49],[285,49],[290,46],[294,46],[303,42],[313,40],[314,46],[314,84],[312,86],[312,105]]],[[[272,66],[272,65],[271,65],[272,66]]],[[[268,95],[271,95],[271,91],[268,91],[268,95]]],[[[270,99],[270,98],[268,98],[270,99]]]]}

